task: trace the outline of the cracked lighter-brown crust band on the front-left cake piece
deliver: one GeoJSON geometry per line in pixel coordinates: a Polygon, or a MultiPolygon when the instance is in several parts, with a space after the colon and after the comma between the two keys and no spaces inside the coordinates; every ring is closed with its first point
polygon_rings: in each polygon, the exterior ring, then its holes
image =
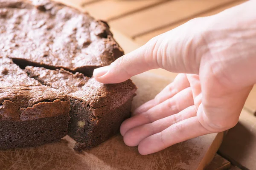
{"type": "Polygon", "coordinates": [[[67,96],[47,86],[0,87],[0,103],[1,120],[16,122],[69,112],[67,96]]]}

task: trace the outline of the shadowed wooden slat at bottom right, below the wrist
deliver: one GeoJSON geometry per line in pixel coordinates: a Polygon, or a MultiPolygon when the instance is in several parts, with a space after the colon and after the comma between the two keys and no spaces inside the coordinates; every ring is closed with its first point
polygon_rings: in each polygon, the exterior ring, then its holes
{"type": "Polygon", "coordinates": [[[243,110],[239,123],[224,137],[219,153],[238,167],[255,170],[256,117],[243,110]]]}

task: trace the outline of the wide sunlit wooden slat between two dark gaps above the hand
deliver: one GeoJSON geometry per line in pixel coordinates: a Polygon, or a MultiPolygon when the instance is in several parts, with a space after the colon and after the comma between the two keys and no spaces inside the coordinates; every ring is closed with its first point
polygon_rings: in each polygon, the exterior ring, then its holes
{"type": "Polygon", "coordinates": [[[171,0],[134,14],[113,20],[110,25],[130,37],[168,26],[181,19],[191,17],[211,8],[234,0],[171,0]]]}

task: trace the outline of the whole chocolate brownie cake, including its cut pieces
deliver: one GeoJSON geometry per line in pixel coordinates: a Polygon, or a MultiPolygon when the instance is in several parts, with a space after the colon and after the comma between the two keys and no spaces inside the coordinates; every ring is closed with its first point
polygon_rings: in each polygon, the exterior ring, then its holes
{"type": "Polygon", "coordinates": [[[80,151],[130,116],[133,82],[91,77],[124,54],[107,23],[49,0],[0,0],[0,39],[0,149],[68,134],[80,151]]]}

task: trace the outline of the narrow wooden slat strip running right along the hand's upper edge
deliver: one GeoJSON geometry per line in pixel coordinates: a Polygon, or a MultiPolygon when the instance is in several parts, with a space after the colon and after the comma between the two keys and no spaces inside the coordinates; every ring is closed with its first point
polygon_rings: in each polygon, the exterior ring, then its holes
{"type": "MultiPolygon", "coordinates": [[[[208,12],[206,12],[206,13],[199,14],[199,15],[197,15],[197,16],[195,16],[195,17],[206,17],[206,16],[210,16],[210,15],[213,15],[213,14],[217,14],[217,13],[219,13],[219,12],[221,12],[221,11],[227,9],[227,8],[231,8],[231,7],[233,7],[233,6],[237,6],[237,5],[239,5],[239,4],[241,4],[241,3],[244,3],[244,2],[246,2],[246,1],[247,1],[247,0],[239,0],[239,1],[236,1],[236,2],[234,2],[234,3],[230,3],[230,4],[227,4],[227,5],[225,5],[225,6],[221,6],[220,8],[217,8],[217,9],[214,9],[214,10],[211,10],[211,11],[208,11],[208,12]]],[[[193,18],[193,17],[192,17],[192,18],[193,18]]],[[[167,27],[165,27],[165,28],[161,28],[161,29],[158,29],[158,30],[156,30],[156,31],[152,31],[152,32],[150,32],[150,33],[148,33],[148,34],[144,34],[144,35],[141,35],[141,36],[139,36],[139,37],[135,37],[135,41],[136,41],[137,43],[143,45],[143,44],[145,44],[146,42],[148,42],[148,40],[150,40],[151,38],[153,38],[153,37],[155,37],[155,36],[157,36],[157,35],[159,35],[159,34],[163,34],[164,32],[169,31],[169,30],[171,30],[171,29],[173,29],[173,28],[176,28],[177,26],[180,26],[180,25],[182,25],[183,23],[186,23],[187,21],[191,20],[192,18],[187,18],[186,20],[182,20],[182,21],[180,21],[180,22],[178,22],[178,23],[175,23],[175,24],[173,24],[173,25],[171,25],[171,26],[167,26],[167,27]]]]}

